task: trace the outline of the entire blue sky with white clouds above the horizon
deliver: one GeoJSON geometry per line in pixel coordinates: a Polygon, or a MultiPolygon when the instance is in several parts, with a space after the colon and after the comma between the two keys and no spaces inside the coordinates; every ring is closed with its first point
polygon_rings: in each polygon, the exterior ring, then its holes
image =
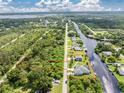
{"type": "Polygon", "coordinates": [[[123,10],[124,0],[0,0],[0,13],[123,10]]]}

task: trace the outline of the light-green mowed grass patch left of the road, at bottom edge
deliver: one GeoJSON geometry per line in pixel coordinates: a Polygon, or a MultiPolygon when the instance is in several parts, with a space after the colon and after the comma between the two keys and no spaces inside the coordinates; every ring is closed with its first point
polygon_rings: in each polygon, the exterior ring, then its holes
{"type": "Polygon", "coordinates": [[[60,80],[59,84],[53,84],[53,87],[50,91],[50,93],[62,93],[62,80],[60,80]]]}

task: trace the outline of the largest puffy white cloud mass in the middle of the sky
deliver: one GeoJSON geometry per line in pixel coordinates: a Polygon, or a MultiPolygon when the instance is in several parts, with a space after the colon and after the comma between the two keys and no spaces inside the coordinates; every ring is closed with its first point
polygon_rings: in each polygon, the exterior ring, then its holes
{"type": "Polygon", "coordinates": [[[74,4],[69,0],[41,0],[35,4],[38,7],[48,8],[50,11],[99,11],[104,8],[99,5],[99,0],[81,0],[79,3],[74,4]]]}

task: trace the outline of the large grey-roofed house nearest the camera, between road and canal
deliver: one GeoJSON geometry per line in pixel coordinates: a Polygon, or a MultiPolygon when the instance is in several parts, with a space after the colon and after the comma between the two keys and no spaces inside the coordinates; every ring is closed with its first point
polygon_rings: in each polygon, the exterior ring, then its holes
{"type": "Polygon", "coordinates": [[[88,75],[89,73],[90,73],[90,70],[87,65],[76,65],[74,67],[75,76],[88,75]]]}

